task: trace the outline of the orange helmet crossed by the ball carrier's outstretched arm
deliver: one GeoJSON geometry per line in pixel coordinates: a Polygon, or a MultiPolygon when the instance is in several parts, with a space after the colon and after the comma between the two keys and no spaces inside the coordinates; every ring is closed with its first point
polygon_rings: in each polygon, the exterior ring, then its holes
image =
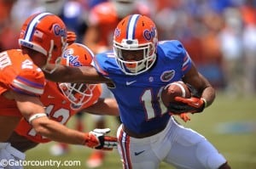
{"type": "MultiPolygon", "coordinates": [[[[80,43],[73,43],[69,45],[64,51],[61,64],[79,67],[83,65],[90,66],[94,54],[89,48],[80,43]]],[[[93,89],[96,87],[95,84],[85,83],[59,83],[61,92],[67,97],[67,99],[77,107],[87,103],[93,96],[93,89]]]]}

